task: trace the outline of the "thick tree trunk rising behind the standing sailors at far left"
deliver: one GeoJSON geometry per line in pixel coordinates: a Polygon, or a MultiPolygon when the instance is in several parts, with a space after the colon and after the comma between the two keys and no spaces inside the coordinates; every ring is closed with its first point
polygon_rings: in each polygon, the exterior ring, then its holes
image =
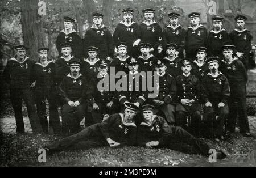
{"type": "Polygon", "coordinates": [[[37,60],[38,48],[44,46],[43,27],[38,14],[38,2],[35,0],[21,0],[21,24],[24,45],[30,48],[28,55],[37,60]]]}

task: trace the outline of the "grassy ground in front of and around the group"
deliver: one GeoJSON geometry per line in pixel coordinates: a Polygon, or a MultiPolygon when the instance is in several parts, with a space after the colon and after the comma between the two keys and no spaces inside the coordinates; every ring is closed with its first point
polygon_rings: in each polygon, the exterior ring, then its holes
{"type": "MultiPolygon", "coordinates": [[[[251,71],[247,86],[248,95],[256,95],[255,88],[256,71],[251,71]]],[[[255,101],[255,98],[247,99],[250,129],[254,136],[256,135],[255,101]]],[[[229,153],[227,158],[217,160],[217,163],[209,163],[209,159],[201,155],[142,147],[115,149],[104,147],[84,151],[64,151],[47,155],[46,163],[39,163],[38,150],[63,137],[51,134],[33,135],[26,116],[24,116],[26,134],[15,134],[13,111],[10,107],[4,111],[0,117],[0,166],[256,166],[256,137],[245,138],[238,132],[224,142],[205,140],[210,147],[225,149],[229,153]]]]}

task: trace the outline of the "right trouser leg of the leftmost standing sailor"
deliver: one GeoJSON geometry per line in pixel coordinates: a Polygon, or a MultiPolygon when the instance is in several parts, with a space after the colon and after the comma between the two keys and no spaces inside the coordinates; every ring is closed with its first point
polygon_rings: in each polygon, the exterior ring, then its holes
{"type": "Polygon", "coordinates": [[[42,133],[43,130],[38,115],[36,113],[33,92],[30,90],[30,88],[23,89],[22,92],[24,101],[27,105],[28,118],[30,120],[32,131],[33,133],[42,133]]]}

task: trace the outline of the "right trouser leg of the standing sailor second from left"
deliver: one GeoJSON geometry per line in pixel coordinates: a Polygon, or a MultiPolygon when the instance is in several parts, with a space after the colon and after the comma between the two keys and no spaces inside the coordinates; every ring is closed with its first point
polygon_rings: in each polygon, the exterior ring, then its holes
{"type": "Polygon", "coordinates": [[[60,117],[57,107],[57,96],[55,90],[50,90],[47,94],[49,103],[49,126],[53,128],[55,134],[61,132],[60,117]]]}

